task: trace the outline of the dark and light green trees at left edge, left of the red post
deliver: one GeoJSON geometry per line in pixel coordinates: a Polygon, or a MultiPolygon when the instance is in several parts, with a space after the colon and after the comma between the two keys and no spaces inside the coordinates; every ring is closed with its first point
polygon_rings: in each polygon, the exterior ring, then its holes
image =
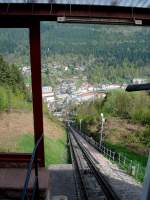
{"type": "Polygon", "coordinates": [[[0,56],[0,112],[31,109],[30,100],[20,69],[0,56]]]}

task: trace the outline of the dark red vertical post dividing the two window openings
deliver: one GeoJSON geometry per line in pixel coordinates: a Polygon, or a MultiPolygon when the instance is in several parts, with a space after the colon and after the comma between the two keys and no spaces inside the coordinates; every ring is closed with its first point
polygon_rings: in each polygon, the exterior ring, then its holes
{"type": "MultiPolygon", "coordinates": [[[[43,135],[43,111],[42,111],[42,84],[41,84],[41,46],[40,46],[40,21],[32,21],[29,29],[30,60],[32,77],[32,100],[34,116],[34,139],[35,144],[43,135]]],[[[37,150],[37,159],[44,166],[44,138],[37,150]]]]}

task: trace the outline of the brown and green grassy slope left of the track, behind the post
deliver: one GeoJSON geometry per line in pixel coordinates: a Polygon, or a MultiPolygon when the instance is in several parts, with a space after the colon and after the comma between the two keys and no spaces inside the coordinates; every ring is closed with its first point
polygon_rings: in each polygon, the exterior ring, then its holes
{"type": "MultiPolygon", "coordinates": [[[[31,112],[0,115],[1,152],[32,152],[34,147],[32,117],[31,112]]],[[[46,166],[67,163],[67,138],[63,125],[44,116],[44,134],[46,166]]]]}

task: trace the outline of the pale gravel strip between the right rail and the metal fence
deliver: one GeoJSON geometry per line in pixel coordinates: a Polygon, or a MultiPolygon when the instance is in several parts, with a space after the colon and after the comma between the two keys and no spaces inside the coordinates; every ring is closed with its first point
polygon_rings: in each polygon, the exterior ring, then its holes
{"type": "Polygon", "coordinates": [[[96,163],[100,173],[103,174],[120,199],[140,199],[142,193],[142,185],[140,183],[126,174],[125,171],[121,170],[116,164],[105,158],[77,132],[74,132],[74,134],[77,140],[82,143],[90,157],[93,159],[93,162],[96,163]]]}

